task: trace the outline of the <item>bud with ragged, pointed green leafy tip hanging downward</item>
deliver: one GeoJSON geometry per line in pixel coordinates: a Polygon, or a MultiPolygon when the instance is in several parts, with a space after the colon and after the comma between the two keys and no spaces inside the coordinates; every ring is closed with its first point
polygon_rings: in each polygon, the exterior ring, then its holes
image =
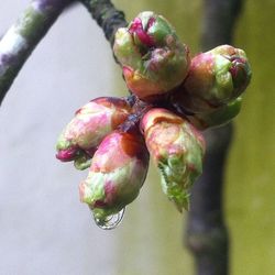
{"type": "Polygon", "coordinates": [[[189,188],[202,172],[205,141],[187,121],[166,109],[151,109],[141,121],[162,186],[177,209],[189,207],[189,188]]]}

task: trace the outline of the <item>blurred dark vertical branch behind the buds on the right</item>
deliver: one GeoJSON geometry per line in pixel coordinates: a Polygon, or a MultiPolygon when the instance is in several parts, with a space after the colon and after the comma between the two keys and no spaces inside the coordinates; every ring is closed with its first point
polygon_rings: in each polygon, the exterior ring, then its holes
{"type": "MultiPolygon", "coordinates": [[[[205,0],[201,45],[208,51],[231,44],[241,0],[205,0]]],[[[229,274],[229,233],[223,217],[224,166],[233,135],[232,123],[205,133],[204,174],[191,190],[186,243],[197,275],[229,274]]]]}

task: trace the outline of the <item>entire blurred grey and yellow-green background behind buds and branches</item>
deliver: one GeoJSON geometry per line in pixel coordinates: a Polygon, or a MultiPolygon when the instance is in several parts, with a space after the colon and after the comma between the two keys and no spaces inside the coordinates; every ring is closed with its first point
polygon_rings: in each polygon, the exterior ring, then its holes
{"type": "MultiPolygon", "coordinates": [[[[116,0],[131,20],[154,10],[199,51],[202,1],[116,0]]],[[[2,0],[0,35],[29,0],[2,0]]],[[[232,275],[275,274],[275,1],[250,0],[234,43],[245,50],[252,82],[235,119],[224,206],[232,275]]],[[[81,6],[67,10],[34,51],[0,108],[0,274],[193,274],[184,248],[185,213],[162,194],[150,169],[139,198],[112,231],[79,202],[87,172],[55,160],[56,139],[75,110],[127,88],[109,43],[81,6]]]]}

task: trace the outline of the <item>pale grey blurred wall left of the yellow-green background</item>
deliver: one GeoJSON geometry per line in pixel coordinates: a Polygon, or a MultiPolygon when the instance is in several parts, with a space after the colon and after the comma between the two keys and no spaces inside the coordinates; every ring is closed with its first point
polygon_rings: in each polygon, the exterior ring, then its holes
{"type": "MultiPolygon", "coordinates": [[[[29,0],[1,1],[0,33],[29,0]]],[[[0,274],[113,274],[116,231],[78,200],[86,173],[55,160],[74,111],[111,95],[112,55],[80,7],[58,20],[0,108],[0,274]],[[92,272],[92,270],[97,272],[92,272]]]]}

